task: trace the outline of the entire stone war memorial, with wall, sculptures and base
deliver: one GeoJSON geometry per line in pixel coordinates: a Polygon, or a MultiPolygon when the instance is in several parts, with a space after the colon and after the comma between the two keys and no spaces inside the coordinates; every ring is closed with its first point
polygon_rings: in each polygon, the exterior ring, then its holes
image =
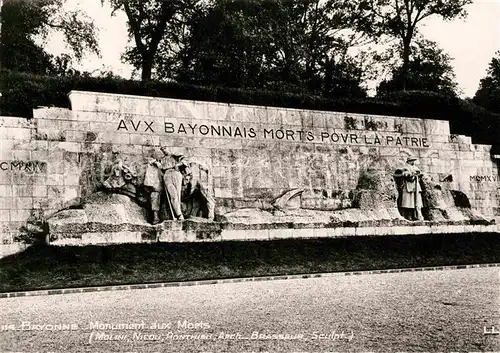
{"type": "Polygon", "coordinates": [[[96,92],[0,117],[1,255],[54,245],[497,231],[491,146],[446,120],[96,92]]]}

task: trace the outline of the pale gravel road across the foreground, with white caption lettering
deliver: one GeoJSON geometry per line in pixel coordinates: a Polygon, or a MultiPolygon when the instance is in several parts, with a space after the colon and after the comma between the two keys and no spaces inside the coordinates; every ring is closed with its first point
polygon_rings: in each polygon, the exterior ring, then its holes
{"type": "Polygon", "coordinates": [[[478,268],[0,299],[0,351],[500,351],[491,334],[500,330],[499,275],[478,268]]]}

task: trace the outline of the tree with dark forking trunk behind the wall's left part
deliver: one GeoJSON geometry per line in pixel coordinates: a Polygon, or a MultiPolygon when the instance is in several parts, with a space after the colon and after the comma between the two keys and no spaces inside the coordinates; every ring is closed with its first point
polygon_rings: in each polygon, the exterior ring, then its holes
{"type": "MultiPolygon", "coordinates": [[[[105,0],[102,0],[104,2],[105,0]]],[[[109,0],[113,13],[125,11],[128,33],[134,46],[122,58],[141,70],[143,81],[151,80],[159,62],[159,51],[172,49],[171,41],[197,0],[109,0]]]]}

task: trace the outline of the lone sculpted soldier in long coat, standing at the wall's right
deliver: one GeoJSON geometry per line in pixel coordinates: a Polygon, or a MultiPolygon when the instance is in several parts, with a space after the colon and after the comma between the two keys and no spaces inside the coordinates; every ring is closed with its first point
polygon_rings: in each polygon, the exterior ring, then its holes
{"type": "Polygon", "coordinates": [[[400,183],[400,205],[403,217],[409,220],[422,220],[422,173],[415,165],[416,158],[408,158],[402,170],[400,183]]]}

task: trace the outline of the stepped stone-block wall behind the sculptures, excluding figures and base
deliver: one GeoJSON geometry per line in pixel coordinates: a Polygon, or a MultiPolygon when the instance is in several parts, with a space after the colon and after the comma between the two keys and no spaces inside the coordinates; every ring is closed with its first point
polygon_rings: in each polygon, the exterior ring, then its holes
{"type": "MultiPolygon", "coordinates": [[[[244,210],[280,209],[280,202],[304,214],[397,213],[394,173],[408,159],[416,159],[429,189],[452,191],[455,206],[464,206],[457,201],[462,195],[465,207],[485,219],[500,215],[491,146],[450,134],[448,121],[80,91],[69,99],[71,109],[0,117],[4,254],[23,246],[18,238],[27,224],[81,209],[109,184],[118,162],[143,184],[141,170],[161,159],[162,149],[197,166],[201,190],[215,203],[215,222],[234,212],[241,220],[244,210]]],[[[118,215],[129,212],[116,207],[118,215]]],[[[452,208],[441,207],[444,219],[453,219],[452,208]]],[[[429,214],[426,220],[436,220],[429,214]]]]}

